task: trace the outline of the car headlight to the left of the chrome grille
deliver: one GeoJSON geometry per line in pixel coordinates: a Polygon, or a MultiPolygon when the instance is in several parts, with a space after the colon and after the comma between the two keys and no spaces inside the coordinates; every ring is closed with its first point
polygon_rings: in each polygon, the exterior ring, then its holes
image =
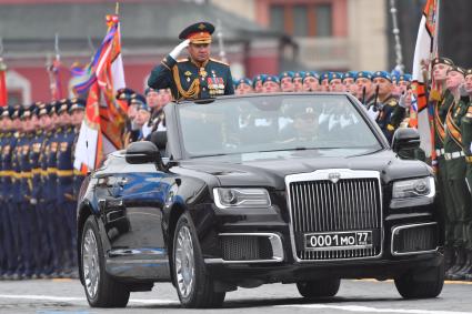
{"type": "Polygon", "coordinates": [[[269,192],[265,189],[217,188],[214,203],[219,209],[269,207],[269,192]]]}

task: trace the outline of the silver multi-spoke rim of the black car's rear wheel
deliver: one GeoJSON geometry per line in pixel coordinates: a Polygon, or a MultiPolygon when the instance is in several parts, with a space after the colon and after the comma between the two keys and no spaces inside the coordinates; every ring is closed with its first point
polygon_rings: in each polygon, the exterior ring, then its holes
{"type": "Polygon", "coordinates": [[[94,298],[100,282],[100,264],[97,237],[91,229],[87,231],[83,237],[82,272],[87,293],[91,298],[94,298]]]}

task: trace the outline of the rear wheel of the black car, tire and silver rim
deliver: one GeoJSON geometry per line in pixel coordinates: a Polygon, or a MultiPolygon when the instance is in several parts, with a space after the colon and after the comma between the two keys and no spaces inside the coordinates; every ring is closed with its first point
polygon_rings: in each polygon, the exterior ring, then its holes
{"type": "Polygon", "coordinates": [[[103,247],[96,217],[89,216],[81,235],[81,272],[87,300],[92,307],[124,307],[130,292],[106,272],[103,247]]]}

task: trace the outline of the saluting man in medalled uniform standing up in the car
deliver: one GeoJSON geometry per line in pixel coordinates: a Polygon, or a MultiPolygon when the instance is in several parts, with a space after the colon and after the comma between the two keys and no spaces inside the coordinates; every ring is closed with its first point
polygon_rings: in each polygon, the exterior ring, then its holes
{"type": "Polygon", "coordinates": [[[153,89],[170,88],[175,101],[233,94],[230,67],[210,58],[213,31],[214,27],[208,22],[199,22],[185,28],[179,34],[179,39],[183,42],[152,70],[148,85],[153,89]],[[190,57],[178,60],[178,55],[185,48],[190,57]]]}

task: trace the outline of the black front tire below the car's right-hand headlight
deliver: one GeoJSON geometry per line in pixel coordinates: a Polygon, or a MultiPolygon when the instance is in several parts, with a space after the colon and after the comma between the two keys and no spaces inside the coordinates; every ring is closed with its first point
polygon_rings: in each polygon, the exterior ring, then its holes
{"type": "Polygon", "coordinates": [[[444,263],[425,270],[416,269],[395,278],[395,286],[404,298],[430,298],[440,295],[444,285],[444,263]]]}

